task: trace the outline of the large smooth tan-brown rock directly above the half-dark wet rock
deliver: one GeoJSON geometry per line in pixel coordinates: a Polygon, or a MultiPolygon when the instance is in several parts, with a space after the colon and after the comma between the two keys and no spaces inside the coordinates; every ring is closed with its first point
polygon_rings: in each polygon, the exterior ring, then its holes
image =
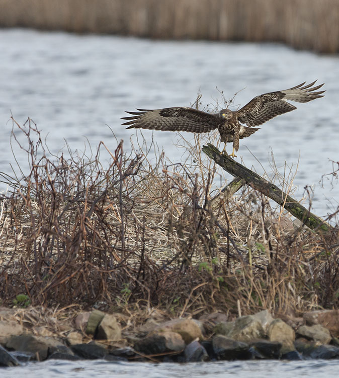
{"type": "Polygon", "coordinates": [[[193,319],[174,319],[161,323],[155,327],[154,331],[160,332],[176,332],[181,335],[185,344],[191,343],[195,339],[202,340],[201,323],[193,319]]]}

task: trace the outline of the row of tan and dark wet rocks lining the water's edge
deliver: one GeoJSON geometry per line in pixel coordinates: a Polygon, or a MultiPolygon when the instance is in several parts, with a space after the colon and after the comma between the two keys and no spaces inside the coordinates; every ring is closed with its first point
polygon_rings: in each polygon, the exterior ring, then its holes
{"type": "Polygon", "coordinates": [[[98,310],[71,318],[36,309],[0,308],[0,366],[46,359],[197,362],[244,359],[339,358],[339,312],[318,310],[292,319],[269,311],[229,321],[214,313],[163,321],[154,310],[139,326],[98,310]],[[122,326],[122,324],[125,324],[122,326]],[[55,333],[53,333],[53,324],[55,333]]]}

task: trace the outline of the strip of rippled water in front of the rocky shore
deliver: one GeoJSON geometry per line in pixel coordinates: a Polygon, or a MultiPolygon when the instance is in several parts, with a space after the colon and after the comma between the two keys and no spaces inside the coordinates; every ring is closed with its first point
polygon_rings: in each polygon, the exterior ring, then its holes
{"type": "Polygon", "coordinates": [[[25,376],[26,378],[66,377],[137,377],[137,378],[194,378],[210,376],[213,378],[296,378],[312,377],[328,378],[337,376],[338,360],[318,361],[219,361],[201,363],[112,363],[96,361],[61,361],[51,360],[29,363],[23,367],[0,369],[7,378],[25,376]]]}

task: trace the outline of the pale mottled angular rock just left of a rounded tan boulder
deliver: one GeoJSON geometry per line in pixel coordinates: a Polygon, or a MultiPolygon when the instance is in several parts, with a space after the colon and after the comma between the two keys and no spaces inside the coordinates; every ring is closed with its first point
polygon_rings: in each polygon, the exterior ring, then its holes
{"type": "Polygon", "coordinates": [[[264,338],[265,332],[262,323],[252,315],[249,315],[235,320],[229,337],[237,341],[248,342],[264,338]]]}

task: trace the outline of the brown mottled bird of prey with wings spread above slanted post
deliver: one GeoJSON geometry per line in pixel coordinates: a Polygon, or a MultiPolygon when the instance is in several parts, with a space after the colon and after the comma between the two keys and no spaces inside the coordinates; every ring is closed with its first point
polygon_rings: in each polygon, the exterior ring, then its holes
{"type": "MultiPolygon", "coordinates": [[[[123,125],[130,125],[130,128],[145,128],[161,131],[191,131],[208,132],[218,129],[221,141],[233,142],[233,152],[230,155],[235,157],[234,152],[239,148],[239,139],[245,138],[259,128],[258,126],[276,117],[279,114],[297,109],[287,102],[308,102],[317,99],[325,91],[314,92],[323,84],[313,87],[316,81],[305,85],[306,82],[283,91],[264,93],[253,98],[242,108],[232,111],[222,109],[219,113],[211,114],[188,107],[174,107],[163,109],[137,109],[138,112],[127,112],[131,117],[123,117],[127,120],[123,125]],[[246,126],[244,126],[245,124],[246,126]]],[[[225,148],[224,148],[225,150],[225,148]]]]}

